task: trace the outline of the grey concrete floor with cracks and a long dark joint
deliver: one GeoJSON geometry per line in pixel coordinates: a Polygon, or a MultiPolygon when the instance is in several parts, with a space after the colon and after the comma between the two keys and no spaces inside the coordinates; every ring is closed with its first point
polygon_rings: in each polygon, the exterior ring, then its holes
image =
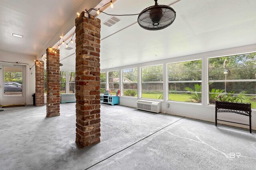
{"type": "Polygon", "coordinates": [[[75,143],[75,103],[0,112],[0,170],[247,169],[256,167],[256,132],[102,104],[101,142],[75,143]],[[235,158],[234,158],[235,157],[235,158]]]}

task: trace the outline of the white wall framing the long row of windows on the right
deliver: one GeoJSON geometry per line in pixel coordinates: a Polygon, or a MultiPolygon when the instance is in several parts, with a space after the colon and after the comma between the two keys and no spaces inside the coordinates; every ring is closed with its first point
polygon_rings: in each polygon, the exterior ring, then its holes
{"type": "MultiPolygon", "coordinates": [[[[120,80],[122,81],[122,69],[129,68],[138,68],[138,97],[120,97],[120,105],[136,107],[136,101],[141,99],[140,97],[140,67],[148,66],[148,65],[157,65],[163,64],[164,67],[164,99],[162,102],[162,112],[166,110],[166,104],[170,104],[170,108],[167,109],[166,113],[179,115],[184,117],[190,117],[194,119],[200,119],[204,121],[215,122],[215,106],[208,105],[208,75],[207,75],[207,59],[209,57],[220,57],[225,55],[233,55],[239,53],[249,53],[256,51],[256,44],[246,45],[241,47],[234,47],[229,49],[222,49],[218,51],[210,51],[206,53],[199,53],[193,55],[187,55],[182,57],[175,57],[170,59],[158,60],[154,62],[148,63],[140,63],[136,65],[128,65],[124,67],[115,67],[111,69],[103,69],[104,71],[114,71],[120,70],[120,80]],[[167,64],[178,61],[188,61],[193,59],[202,59],[202,104],[193,104],[193,103],[182,103],[182,102],[174,102],[168,101],[168,83],[167,83],[167,64]]],[[[107,75],[107,74],[106,74],[107,75]]],[[[107,82],[106,82],[107,83],[107,82]]],[[[106,85],[107,86],[107,85],[106,85]]],[[[122,82],[120,83],[120,89],[122,89],[122,82]]],[[[151,100],[151,99],[143,99],[143,100],[151,100]]],[[[159,101],[159,100],[158,100],[159,101]]],[[[239,122],[244,124],[249,124],[249,117],[238,115],[235,113],[218,113],[218,119],[224,119],[233,122],[239,122]]],[[[237,127],[248,128],[248,126],[239,125],[239,124],[230,124],[226,122],[220,122],[226,125],[232,125],[237,127]]],[[[252,111],[252,129],[256,130],[256,109],[252,111]]]]}

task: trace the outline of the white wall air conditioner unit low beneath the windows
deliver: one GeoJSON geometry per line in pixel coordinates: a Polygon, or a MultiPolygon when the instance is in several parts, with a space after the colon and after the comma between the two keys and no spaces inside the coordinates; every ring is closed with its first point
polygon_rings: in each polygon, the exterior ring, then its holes
{"type": "Polygon", "coordinates": [[[147,101],[147,100],[138,100],[137,109],[150,111],[154,113],[161,112],[161,102],[159,101],[147,101]]]}

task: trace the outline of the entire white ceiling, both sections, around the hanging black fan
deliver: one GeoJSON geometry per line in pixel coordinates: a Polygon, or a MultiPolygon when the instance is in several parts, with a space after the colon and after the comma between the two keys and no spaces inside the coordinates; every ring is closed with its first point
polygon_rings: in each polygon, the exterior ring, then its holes
{"type": "MultiPolygon", "coordinates": [[[[58,35],[54,33],[81,0],[34,0],[29,1],[29,7],[26,2],[0,0],[0,50],[36,55],[43,54],[49,42],[58,45],[58,35]],[[51,9],[47,2],[52,4],[51,9]],[[22,34],[24,39],[14,38],[12,33],[22,34]]],[[[98,6],[106,2],[109,0],[98,6]]],[[[121,21],[114,26],[101,25],[101,69],[256,44],[256,0],[158,0],[158,3],[174,3],[171,7],[176,11],[174,23],[163,30],[140,28],[138,16],[118,16],[121,21]]],[[[116,0],[114,8],[104,12],[138,14],[152,5],[154,0],[116,0]]],[[[98,16],[102,23],[110,17],[103,13],[98,16]]],[[[65,41],[71,40],[72,24],[65,41]]],[[[75,43],[69,47],[74,49],[66,50],[65,45],[60,48],[64,70],[75,69],[75,43]]]]}

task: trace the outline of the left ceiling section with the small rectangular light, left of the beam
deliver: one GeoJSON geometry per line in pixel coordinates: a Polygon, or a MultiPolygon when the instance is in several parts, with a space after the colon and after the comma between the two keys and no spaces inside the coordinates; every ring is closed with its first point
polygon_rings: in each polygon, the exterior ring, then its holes
{"type": "Polygon", "coordinates": [[[80,2],[0,0],[0,50],[37,55],[80,2]]]}

